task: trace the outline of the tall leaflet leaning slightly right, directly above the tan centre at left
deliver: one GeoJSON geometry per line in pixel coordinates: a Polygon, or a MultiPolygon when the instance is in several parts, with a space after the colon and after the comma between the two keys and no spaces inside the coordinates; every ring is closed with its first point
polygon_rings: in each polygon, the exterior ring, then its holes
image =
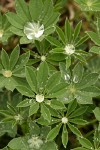
{"type": "Polygon", "coordinates": [[[16,65],[20,54],[19,46],[16,46],[10,55],[10,69],[12,70],[16,65]]]}

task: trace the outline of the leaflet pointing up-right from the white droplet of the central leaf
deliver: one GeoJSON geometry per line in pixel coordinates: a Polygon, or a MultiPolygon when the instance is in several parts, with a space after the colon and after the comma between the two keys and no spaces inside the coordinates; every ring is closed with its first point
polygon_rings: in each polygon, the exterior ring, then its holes
{"type": "Polygon", "coordinates": [[[53,75],[51,75],[47,81],[46,89],[49,91],[52,88],[54,88],[54,86],[59,83],[60,78],[61,78],[61,75],[59,72],[55,72],[53,75]]]}

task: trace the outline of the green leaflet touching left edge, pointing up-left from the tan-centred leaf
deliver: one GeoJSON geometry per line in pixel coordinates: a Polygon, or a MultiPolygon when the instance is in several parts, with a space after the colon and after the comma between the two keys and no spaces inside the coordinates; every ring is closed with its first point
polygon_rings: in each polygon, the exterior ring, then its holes
{"type": "Polygon", "coordinates": [[[4,49],[2,49],[1,51],[1,62],[2,62],[3,67],[8,70],[9,69],[9,56],[4,49]]]}

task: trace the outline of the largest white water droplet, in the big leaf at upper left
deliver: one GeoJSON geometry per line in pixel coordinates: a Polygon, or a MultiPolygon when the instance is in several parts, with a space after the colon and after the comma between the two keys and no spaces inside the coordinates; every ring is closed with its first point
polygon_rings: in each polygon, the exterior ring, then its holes
{"type": "Polygon", "coordinates": [[[36,22],[27,22],[24,26],[24,33],[29,40],[38,39],[44,33],[44,25],[36,22]]]}

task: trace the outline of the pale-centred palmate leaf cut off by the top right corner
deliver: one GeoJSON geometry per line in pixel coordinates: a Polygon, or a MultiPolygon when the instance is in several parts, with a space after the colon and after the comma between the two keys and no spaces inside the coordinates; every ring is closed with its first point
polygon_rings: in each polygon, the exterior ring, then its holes
{"type": "Polygon", "coordinates": [[[99,0],[75,0],[82,11],[100,11],[99,0]]]}

